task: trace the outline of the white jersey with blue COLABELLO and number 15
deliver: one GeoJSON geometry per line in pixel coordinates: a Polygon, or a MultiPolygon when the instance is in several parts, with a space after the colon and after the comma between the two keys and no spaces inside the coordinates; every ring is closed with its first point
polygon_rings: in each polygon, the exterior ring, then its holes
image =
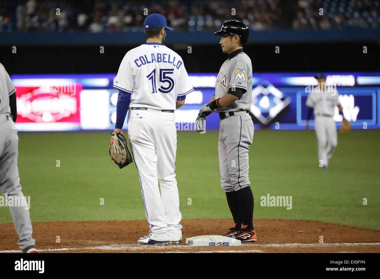
{"type": "Polygon", "coordinates": [[[182,58],[163,44],[146,43],[125,54],[114,88],[132,93],[130,107],[175,110],[194,90],[182,58]]]}

